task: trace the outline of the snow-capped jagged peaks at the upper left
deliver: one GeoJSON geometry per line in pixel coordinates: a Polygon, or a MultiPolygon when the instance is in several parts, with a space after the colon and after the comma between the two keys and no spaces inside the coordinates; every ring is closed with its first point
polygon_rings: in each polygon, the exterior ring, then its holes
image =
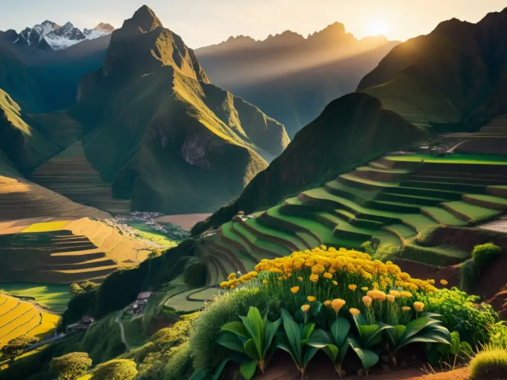
{"type": "Polygon", "coordinates": [[[102,35],[110,34],[114,29],[110,24],[100,23],[93,29],[85,28],[84,31],[81,31],[70,21],[60,26],[55,22],[46,20],[41,24],[34,25],[32,28],[25,28],[18,34],[13,43],[16,45],[37,46],[44,39],[53,50],[62,50],[85,39],[93,40],[102,35]]]}

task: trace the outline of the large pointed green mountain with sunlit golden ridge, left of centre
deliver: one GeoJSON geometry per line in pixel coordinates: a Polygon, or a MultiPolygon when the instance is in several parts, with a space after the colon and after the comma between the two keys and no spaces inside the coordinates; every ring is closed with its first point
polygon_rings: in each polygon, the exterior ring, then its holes
{"type": "MultiPolygon", "coordinates": [[[[289,141],[259,108],[210,84],[194,52],[146,6],[112,33],[78,99],[65,113],[82,127],[85,159],[133,210],[215,210],[289,141]]],[[[64,168],[74,157],[64,151],[31,178],[44,173],[45,186],[72,197],[80,183],[64,168]]],[[[93,194],[85,203],[95,205],[93,194]]]]}

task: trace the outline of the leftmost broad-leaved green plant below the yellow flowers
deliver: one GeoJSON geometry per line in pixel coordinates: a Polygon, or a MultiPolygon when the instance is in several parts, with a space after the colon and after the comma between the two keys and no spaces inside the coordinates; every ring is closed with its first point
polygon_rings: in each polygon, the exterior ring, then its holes
{"type": "Polygon", "coordinates": [[[264,373],[269,357],[276,347],[272,343],[281,321],[278,319],[269,322],[267,315],[262,318],[259,309],[255,307],[250,307],[246,317],[239,318],[241,322],[229,322],[222,326],[222,335],[217,343],[250,359],[241,363],[240,367],[241,374],[248,380],[255,374],[256,367],[264,373]]]}

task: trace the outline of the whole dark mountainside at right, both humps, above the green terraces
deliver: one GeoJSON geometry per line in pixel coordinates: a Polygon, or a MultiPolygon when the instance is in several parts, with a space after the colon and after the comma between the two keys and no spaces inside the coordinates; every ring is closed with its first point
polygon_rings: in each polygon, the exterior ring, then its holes
{"type": "Polygon", "coordinates": [[[396,140],[401,147],[438,133],[477,131],[505,115],[505,25],[507,8],[476,24],[444,21],[395,46],[359,82],[358,93],[332,101],[235,202],[198,223],[193,233],[321,185],[387,153],[396,140]]]}

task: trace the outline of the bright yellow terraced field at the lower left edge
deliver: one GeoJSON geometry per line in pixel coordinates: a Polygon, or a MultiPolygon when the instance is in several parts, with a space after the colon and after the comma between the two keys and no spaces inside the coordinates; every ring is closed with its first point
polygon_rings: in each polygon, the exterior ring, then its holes
{"type": "Polygon", "coordinates": [[[44,337],[58,320],[59,316],[39,311],[29,302],[0,294],[0,347],[21,335],[44,337]]]}

